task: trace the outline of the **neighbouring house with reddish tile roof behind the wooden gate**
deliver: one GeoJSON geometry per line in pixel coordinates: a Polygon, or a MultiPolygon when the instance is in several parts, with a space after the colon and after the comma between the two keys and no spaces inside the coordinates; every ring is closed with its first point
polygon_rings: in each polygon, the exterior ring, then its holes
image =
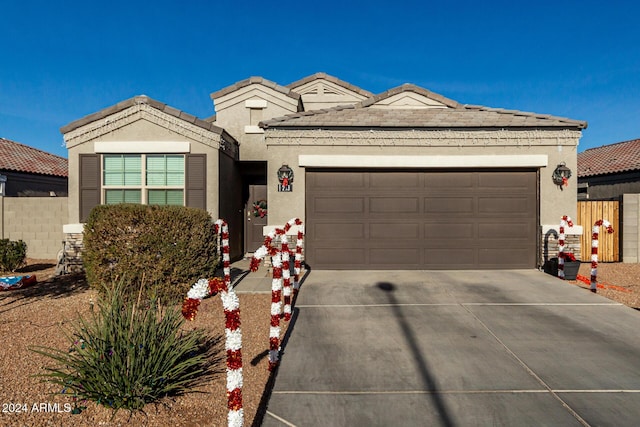
{"type": "Polygon", "coordinates": [[[578,199],[618,200],[640,193],[640,139],[578,153],[578,199]]]}

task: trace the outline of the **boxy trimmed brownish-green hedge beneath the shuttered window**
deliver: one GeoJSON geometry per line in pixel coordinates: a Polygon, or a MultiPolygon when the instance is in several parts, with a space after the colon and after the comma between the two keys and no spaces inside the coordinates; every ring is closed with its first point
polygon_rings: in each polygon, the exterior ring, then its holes
{"type": "Polygon", "coordinates": [[[125,293],[178,302],[219,261],[211,216],[182,206],[101,205],[84,228],[83,264],[89,285],[104,289],[124,280],[125,293]]]}

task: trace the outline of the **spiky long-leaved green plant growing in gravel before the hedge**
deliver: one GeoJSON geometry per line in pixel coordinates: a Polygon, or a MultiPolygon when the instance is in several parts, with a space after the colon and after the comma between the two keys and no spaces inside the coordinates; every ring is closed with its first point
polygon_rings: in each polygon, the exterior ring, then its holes
{"type": "Polygon", "coordinates": [[[107,407],[141,409],[165,396],[184,394],[221,372],[220,337],[184,331],[176,308],[127,299],[121,286],[107,289],[67,332],[71,348],[33,347],[57,362],[39,376],[63,394],[107,407]],[[217,354],[217,355],[216,355],[217,354]]]}

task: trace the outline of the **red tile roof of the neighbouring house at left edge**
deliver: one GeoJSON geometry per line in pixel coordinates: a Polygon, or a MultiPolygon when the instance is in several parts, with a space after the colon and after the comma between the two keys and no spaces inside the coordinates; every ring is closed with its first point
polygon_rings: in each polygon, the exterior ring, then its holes
{"type": "Polygon", "coordinates": [[[0,170],[68,177],[67,159],[0,138],[0,170]]]}

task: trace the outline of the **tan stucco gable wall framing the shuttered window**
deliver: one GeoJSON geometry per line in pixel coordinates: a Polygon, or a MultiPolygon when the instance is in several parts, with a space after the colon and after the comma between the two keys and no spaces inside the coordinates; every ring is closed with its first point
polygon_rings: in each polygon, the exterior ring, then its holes
{"type": "MultiPolygon", "coordinates": [[[[185,136],[184,133],[177,132],[163,125],[162,120],[159,120],[158,117],[160,116],[154,116],[153,120],[139,118],[102,134],[95,132],[97,134],[95,138],[77,138],[78,141],[74,138],[71,143],[67,143],[69,150],[68,222],[70,224],[80,221],[78,194],[79,155],[95,153],[96,142],[130,142],[132,145],[141,141],[188,142],[191,154],[207,155],[207,211],[213,218],[218,217],[218,141],[220,136],[213,132],[207,132],[204,129],[194,129],[194,131],[197,131],[195,132],[196,136],[198,136],[198,140],[196,140],[196,138],[185,136]]],[[[168,118],[168,120],[175,119],[168,118]]],[[[77,131],[74,132],[78,133],[77,131]]]]}

